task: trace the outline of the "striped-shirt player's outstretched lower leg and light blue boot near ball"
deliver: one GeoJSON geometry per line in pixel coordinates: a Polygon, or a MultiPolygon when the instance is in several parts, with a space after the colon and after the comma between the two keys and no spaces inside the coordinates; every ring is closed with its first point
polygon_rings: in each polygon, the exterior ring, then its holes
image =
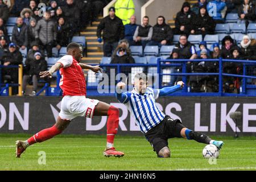
{"type": "Polygon", "coordinates": [[[207,135],[205,135],[204,133],[192,131],[187,129],[186,127],[183,127],[183,129],[181,129],[180,135],[183,138],[186,138],[188,140],[196,140],[199,143],[214,144],[214,146],[216,146],[219,149],[221,149],[221,147],[224,144],[224,142],[222,141],[213,140],[209,138],[207,135]]]}

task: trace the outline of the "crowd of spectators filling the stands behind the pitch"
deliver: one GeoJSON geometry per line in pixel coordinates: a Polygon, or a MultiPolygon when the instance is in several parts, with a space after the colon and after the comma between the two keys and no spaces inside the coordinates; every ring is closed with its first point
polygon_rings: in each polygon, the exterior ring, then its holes
{"type": "MultiPolygon", "coordinates": [[[[26,83],[33,82],[35,95],[37,88],[38,73],[45,69],[46,57],[52,57],[52,48],[66,47],[72,37],[79,33],[93,20],[97,20],[98,14],[102,13],[103,7],[110,1],[11,1],[0,0],[0,61],[2,65],[22,64],[22,52],[27,51],[26,69],[23,77],[23,93],[26,91],[26,83]],[[44,3],[46,11],[42,14],[39,3],[44,3]],[[6,23],[9,17],[18,16],[9,37],[6,23]],[[34,63],[36,61],[36,63],[34,63]],[[37,78],[37,79],[36,79],[37,78]],[[34,83],[35,82],[35,83],[34,83]]],[[[228,13],[238,13],[237,23],[256,23],[255,0],[199,0],[191,6],[184,2],[181,10],[176,14],[175,28],[166,23],[166,18],[158,16],[156,23],[151,26],[148,16],[144,16],[142,24],[138,25],[133,11],[129,11],[129,20],[118,17],[115,7],[109,9],[109,16],[100,21],[97,28],[98,42],[104,42],[103,50],[105,57],[112,57],[111,63],[136,63],[130,46],[175,46],[170,52],[168,59],[246,59],[256,60],[256,40],[244,35],[241,42],[230,35],[224,36],[221,44],[215,42],[208,48],[207,42],[201,41],[193,44],[188,41],[189,35],[216,34],[216,24],[225,23],[228,13]],[[213,5],[214,4],[214,5],[213,5]],[[212,12],[216,7],[216,12],[212,12]],[[101,35],[101,32],[103,34],[101,35]],[[179,40],[174,43],[174,36],[179,35],[179,40]]],[[[118,6],[118,2],[117,2],[118,6]]],[[[132,8],[131,8],[132,9],[132,8]]],[[[170,18],[170,17],[168,17],[170,18]]],[[[218,63],[188,62],[188,72],[214,72],[218,71],[218,63]]],[[[232,74],[241,73],[241,65],[227,62],[224,63],[224,72],[232,74]]],[[[16,68],[3,69],[2,82],[17,83],[18,71],[16,68]],[[13,70],[12,70],[13,69],[13,70]]],[[[126,68],[126,72],[130,69],[126,68]]],[[[172,72],[180,72],[181,68],[172,68],[172,72]]],[[[251,68],[253,72],[253,68],[251,68]]],[[[174,84],[177,77],[172,77],[174,84]]],[[[205,82],[210,83],[208,91],[216,92],[217,77],[190,78],[189,84],[193,90],[200,91],[205,82]]],[[[224,80],[225,92],[234,92],[239,88],[241,80],[238,78],[226,78],[224,80]]],[[[236,91],[237,92],[237,91],[236,91]]],[[[16,94],[17,90],[13,90],[16,94]]]]}

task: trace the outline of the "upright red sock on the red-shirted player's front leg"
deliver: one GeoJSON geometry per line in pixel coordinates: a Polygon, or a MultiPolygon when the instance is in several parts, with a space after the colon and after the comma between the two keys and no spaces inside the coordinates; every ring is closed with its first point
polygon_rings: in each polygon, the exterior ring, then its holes
{"type": "Polygon", "coordinates": [[[109,107],[107,121],[107,142],[114,143],[115,134],[117,134],[119,123],[119,109],[114,106],[109,107]]]}

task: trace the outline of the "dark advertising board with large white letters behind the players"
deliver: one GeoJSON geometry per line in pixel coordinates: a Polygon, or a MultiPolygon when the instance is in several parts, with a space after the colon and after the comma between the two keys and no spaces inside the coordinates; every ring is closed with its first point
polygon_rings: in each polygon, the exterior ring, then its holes
{"type": "MultiPolygon", "coordinates": [[[[126,106],[114,97],[90,97],[120,109],[119,135],[142,135],[126,106]]],[[[0,97],[0,133],[34,134],[52,126],[60,111],[61,97],[0,97]]],[[[229,117],[241,111],[239,135],[256,136],[256,97],[162,97],[158,106],[188,128],[209,135],[234,135],[235,121],[229,117]]],[[[75,118],[64,134],[106,134],[107,117],[75,118]]]]}

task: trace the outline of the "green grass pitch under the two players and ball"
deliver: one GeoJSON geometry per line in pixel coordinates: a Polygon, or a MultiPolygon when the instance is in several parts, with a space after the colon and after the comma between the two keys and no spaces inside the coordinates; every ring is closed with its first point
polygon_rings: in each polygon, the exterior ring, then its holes
{"type": "Polygon", "coordinates": [[[0,170],[256,170],[256,137],[217,137],[224,140],[217,164],[203,158],[205,144],[169,139],[171,158],[156,158],[144,137],[117,136],[115,147],[123,158],[105,158],[105,136],[61,135],[27,148],[15,158],[15,141],[29,135],[0,134],[0,170]],[[40,151],[46,165],[38,164],[40,151]]]}

